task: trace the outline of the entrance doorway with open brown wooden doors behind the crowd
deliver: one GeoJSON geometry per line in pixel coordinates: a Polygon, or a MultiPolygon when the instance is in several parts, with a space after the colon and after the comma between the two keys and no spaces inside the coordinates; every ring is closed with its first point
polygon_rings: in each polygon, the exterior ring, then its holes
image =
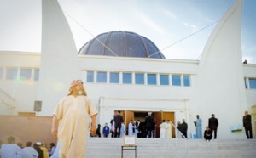
{"type": "MultiPolygon", "coordinates": [[[[145,127],[145,119],[146,116],[148,116],[148,111],[132,111],[132,110],[120,110],[121,115],[124,117],[125,121],[125,127],[126,130],[128,129],[128,124],[131,120],[137,121],[140,120],[142,123],[142,138],[146,138],[146,127],[145,127]]],[[[118,110],[114,111],[114,115],[116,115],[118,110]]],[[[152,112],[151,116],[154,116],[154,121],[156,124],[155,130],[154,130],[154,137],[159,138],[160,137],[160,124],[162,120],[169,120],[172,122],[172,124],[175,124],[175,119],[174,119],[174,112],[163,112],[163,111],[150,111],[152,112]]],[[[172,138],[176,138],[175,135],[175,128],[172,127],[172,138]]]]}

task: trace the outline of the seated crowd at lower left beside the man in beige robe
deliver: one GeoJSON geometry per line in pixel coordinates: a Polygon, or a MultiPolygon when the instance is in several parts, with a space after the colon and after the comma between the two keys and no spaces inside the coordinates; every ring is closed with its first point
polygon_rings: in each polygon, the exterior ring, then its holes
{"type": "Polygon", "coordinates": [[[31,141],[26,142],[23,147],[21,143],[15,142],[15,137],[10,136],[7,144],[0,141],[0,158],[49,158],[55,152],[55,143],[50,144],[48,150],[47,144],[31,141]]]}

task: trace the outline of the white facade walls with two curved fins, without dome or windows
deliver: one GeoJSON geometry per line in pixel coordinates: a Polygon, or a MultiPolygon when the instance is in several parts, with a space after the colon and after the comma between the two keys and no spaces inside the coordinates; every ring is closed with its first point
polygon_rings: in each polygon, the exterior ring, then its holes
{"type": "Polygon", "coordinates": [[[115,110],[163,111],[174,112],[175,122],[184,118],[189,125],[188,133],[191,133],[195,131],[193,121],[197,114],[203,121],[202,127],[207,126],[208,118],[215,114],[219,121],[218,138],[246,138],[243,131],[231,131],[242,124],[244,110],[256,115],[253,112],[256,89],[245,87],[244,82],[244,79],[256,78],[256,65],[243,65],[241,61],[241,0],[218,22],[200,60],[89,55],[77,58],[61,8],[58,3],[51,2],[43,1],[45,36],[41,54],[0,52],[0,115],[33,111],[34,101],[42,100],[39,116],[51,116],[57,101],[67,94],[70,82],[82,78],[92,104],[100,112],[98,123],[102,125],[112,119],[115,110]],[[63,32],[67,32],[67,36],[61,36],[63,32]],[[17,70],[17,76],[22,70],[30,69],[32,80],[8,79],[11,68],[17,70]],[[39,69],[39,80],[34,81],[35,71],[39,69]],[[87,71],[95,72],[94,82],[86,81],[87,71]],[[96,82],[98,71],[107,72],[107,82],[96,82]],[[119,83],[109,82],[110,72],[119,73],[119,83]],[[131,84],[122,83],[124,72],[131,72],[131,84]],[[143,85],[135,84],[136,73],[144,74],[143,85]],[[147,84],[148,74],[157,76],[155,85],[147,84]],[[173,86],[170,81],[168,86],[160,85],[160,74],[169,78],[178,75],[181,84],[173,86]],[[183,76],[189,76],[189,87],[183,85],[183,76]]]}

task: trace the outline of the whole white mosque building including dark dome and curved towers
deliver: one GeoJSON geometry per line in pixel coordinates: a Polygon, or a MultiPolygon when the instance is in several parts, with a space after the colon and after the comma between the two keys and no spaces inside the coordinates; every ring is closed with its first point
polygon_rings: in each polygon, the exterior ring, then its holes
{"type": "Polygon", "coordinates": [[[166,59],[153,41],[130,31],[102,33],[77,51],[60,5],[45,0],[41,54],[0,51],[0,115],[52,116],[73,79],[82,79],[102,126],[118,110],[126,125],[152,112],[156,137],[162,119],[185,119],[190,138],[196,115],[206,127],[215,114],[218,138],[246,138],[244,111],[256,119],[256,65],[242,63],[242,2],[218,21],[201,59],[188,60],[166,59]]]}

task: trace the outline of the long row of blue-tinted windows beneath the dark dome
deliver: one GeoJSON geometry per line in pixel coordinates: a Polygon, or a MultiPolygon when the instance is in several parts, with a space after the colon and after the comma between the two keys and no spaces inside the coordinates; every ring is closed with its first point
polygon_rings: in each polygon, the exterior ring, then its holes
{"type": "MultiPolygon", "coordinates": [[[[5,70],[4,70],[5,71],[5,70]]],[[[29,76],[29,72],[24,71],[24,76],[29,76]]],[[[20,71],[20,75],[23,72],[20,71]]],[[[1,68],[0,68],[0,75],[1,68]]],[[[15,73],[15,72],[13,72],[15,73]]],[[[5,74],[5,73],[4,73],[5,74]]],[[[35,77],[37,73],[35,71],[35,77]]],[[[0,76],[1,77],[1,76],[0,76]]],[[[97,83],[115,83],[115,84],[137,84],[137,85],[162,85],[162,86],[191,86],[191,76],[189,74],[156,74],[154,72],[119,72],[119,71],[86,71],[86,81],[87,82],[97,82],[97,83]]],[[[0,78],[1,79],[1,78],[0,78]]],[[[35,79],[36,80],[36,79],[35,79]]],[[[256,83],[254,83],[256,78],[252,79],[252,88],[256,88],[256,83]]],[[[245,78],[247,81],[247,86],[249,87],[248,78],[245,78]]]]}

